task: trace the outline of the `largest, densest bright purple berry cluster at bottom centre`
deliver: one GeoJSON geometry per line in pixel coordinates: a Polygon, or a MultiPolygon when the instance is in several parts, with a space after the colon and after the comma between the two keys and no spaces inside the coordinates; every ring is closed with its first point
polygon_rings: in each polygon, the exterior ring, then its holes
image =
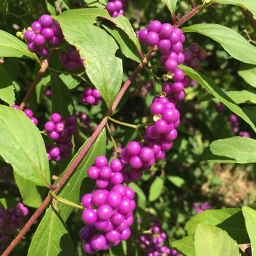
{"type": "Polygon", "coordinates": [[[86,253],[107,250],[129,238],[135,209],[134,195],[131,188],[117,184],[110,190],[95,189],[82,197],[85,207],[82,220],[86,226],[80,230],[79,236],[85,241],[86,253]]]}

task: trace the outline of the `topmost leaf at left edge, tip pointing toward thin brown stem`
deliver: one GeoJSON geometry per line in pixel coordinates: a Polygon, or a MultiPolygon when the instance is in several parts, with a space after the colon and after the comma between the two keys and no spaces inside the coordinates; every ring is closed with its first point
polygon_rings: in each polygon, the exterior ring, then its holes
{"type": "Polygon", "coordinates": [[[36,54],[31,53],[22,40],[3,30],[0,30],[0,57],[29,58],[39,61],[36,54]]]}

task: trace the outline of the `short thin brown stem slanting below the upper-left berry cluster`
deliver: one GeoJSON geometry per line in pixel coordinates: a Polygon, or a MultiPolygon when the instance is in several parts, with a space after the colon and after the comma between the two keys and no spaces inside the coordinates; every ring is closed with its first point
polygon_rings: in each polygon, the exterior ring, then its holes
{"type": "Polygon", "coordinates": [[[42,61],[42,66],[41,66],[40,70],[38,71],[36,78],[34,79],[32,85],[30,86],[28,92],[26,93],[26,96],[24,97],[24,99],[22,100],[22,103],[20,104],[20,110],[24,110],[24,108],[28,102],[28,99],[30,98],[31,94],[34,92],[36,85],[42,78],[42,75],[44,75],[44,72],[46,71],[47,67],[49,66],[49,63],[53,59],[54,53],[55,53],[55,51],[52,51],[51,54],[49,55],[49,57],[47,59],[45,59],[44,61],[42,61]]]}

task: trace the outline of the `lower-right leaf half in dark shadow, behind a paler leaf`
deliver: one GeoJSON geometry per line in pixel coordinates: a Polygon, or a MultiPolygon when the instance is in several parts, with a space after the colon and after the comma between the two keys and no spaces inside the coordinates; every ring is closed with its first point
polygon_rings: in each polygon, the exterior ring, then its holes
{"type": "Polygon", "coordinates": [[[195,215],[185,225],[188,234],[193,234],[198,224],[218,226],[228,232],[239,244],[249,243],[245,228],[245,219],[241,209],[227,208],[222,210],[207,210],[195,215]]]}

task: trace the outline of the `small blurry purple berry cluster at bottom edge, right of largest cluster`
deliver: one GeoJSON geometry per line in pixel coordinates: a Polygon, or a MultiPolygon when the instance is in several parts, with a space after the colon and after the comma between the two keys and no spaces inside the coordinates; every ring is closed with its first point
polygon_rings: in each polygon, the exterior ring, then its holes
{"type": "MultiPolygon", "coordinates": [[[[146,256],[154,255],[179,255],[173,254],[170,248],[164,245],[164,240],[166,239],[166,233],[162,231],[162,223],[159,220],[154,220],[152,224],[148,227],[151,231],[150,234],[143,234],[139,236],[138,243],[143,249],[146,256]]],[[[176,251],[175,251],[176,252],[176,251]]]]}

